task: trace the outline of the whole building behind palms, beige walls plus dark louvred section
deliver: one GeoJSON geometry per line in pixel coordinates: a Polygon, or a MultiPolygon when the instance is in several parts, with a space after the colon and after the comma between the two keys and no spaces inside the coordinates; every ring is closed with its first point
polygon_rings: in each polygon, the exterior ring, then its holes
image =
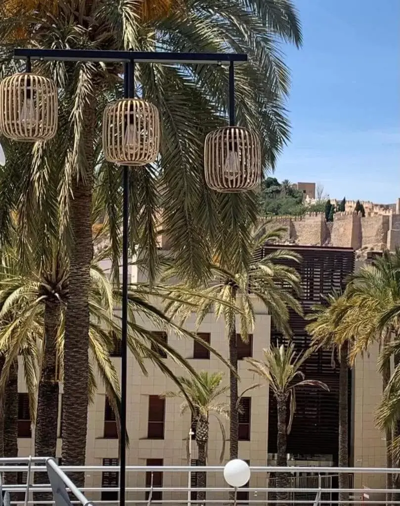
{"type": "MultiPolygon", "coordinates": [[[[281,247],[281,246],[278,246],[281,247]]],[[[289,246],[283,246],[289,247],[289,246]]],[[[260,255],[268,252],[272,246],[260,251],[260,255]]],[[[321,302],[321,294],[327,294],[333,288],[344,286],[346,276],[354,269],[354,251],[351,248],[324,248],[290,246],[297,250],[303,258],[298,266],[302,276],[302,298],[305,313],[311,306],[321,302]]],[[[106,266],[104,266],[106,267],[106,266]]],[[[142,280],[141,274],[132,268],[132,281],[142,280]]],[[[274,330],[271,317],[261,305],[255,305],[255,327],[248,345],[239,346],[239,394],[250,386],[258,383],[259,378],[254,377],[248,369],[243,358],[252,356],[262,359],[263,348],[270,342],[282,339],[274,330]]],[[[152,322],[143,321],[147,328],[156,329],[152,322]]],[[[306,322],[297,315],[291,315],[293,339],[298,350],[309,344],[304,326],[306,322]]],[[[187,328],[195,330],[195,315],[187,322],[187,328]]],[[[237,327],[239,328],[239,327],[237,327]]],[[[222,356],[228,356],[226,331],[223,320],[216,320],[209,314],[201,327],[197,330],[203,339],[211,344],[222,356]]],[[[179,350],[188,359],[196,370],[223,371],[225,384],[228,384],[228,370],[215,356],[191,340],[178,338],[171,332],[163,334],[168,343],[179,350]]],[[[238,336],[239,340],[239,336],[238,336]]],[[[240,341],[238,341],[240,342],[240,341]]],[[[120,350],[116,346],[114,357],[117,370],[120,370],[120,350]]],[[[181,374],[180,367],[172,359],[166,358],[168,366],[177,374],[181,374]]],[[[159,395],[165,391],[176,390],[172,381],[165,377],[151,362],[146,365],[147,375],[144,375],[133,356],[128,357],[128,434],[130,446],[127,452],[127,465],[130,466],[180,466],[187,464],[187,439],[191,428],[189,413],[181,415],[179,399],[161,399],[159,395]]],[[[20,371],[22,368],[20,367],[20,371]]],[[[308,379],[319,379],[330,387],[330,392],[307,389],[299,393],[297,398],[297,413],[292,432],[288,439],[288,453],[291,465],[318,465],[334,466],[337,463],[338,452],[338,368],[332,367],[331,353],[318,352],[309,360],[304,371],[308,379]]],[[[350,465],[359,467],[373,467],[384,465],[384,441],[382,434],[374,425],[374,410],[382,391],[379,382],[379,373],[376,367],[376,356],[372,353],[369,358],[358,360],[350,373],[349,399],[352,406],[350,414],[350,465]]],[[[116,421],[112,409],[108,405],[104,388],[100,386],[95,402],[89,407],[88,416],[88,442],[87,465],[115,466],[118,464],[118,439],[116,421]]],[[[19,409],[19,455],[34,454],[33,434],[31,433],[29,405],[23,374],[20,373],[18,381],[19,409]]],[[[222,401],[224,399],[221,399],[222,401]]],[[[225,399],[229,401],[228,396],[225,399]]],[[[58,454],[61,454],[62,441],[62,387],[59,395],[59,422],[58,422],[58,454]]],[[[228,437],[228,420],[220,418],[228,437]]],[[[239,418],[239,457],[247,460],[251,466],[273,465],[276,453],[276,410],[268,387],[249,390],[242,399],[242,412],[239,418]]],[[[210,418],[210,444],[208,448],[209,465],[219,465],[222,448],[222,433],[216,417],[210,418]]],[[[196,444],[191,444],[191,463],[195,465],[196,444]]],[[[223,461],[229,455],[229,441],[223,461]]],[[[128,475],[128,487],[153,486],[187,486],[187,474],[172,473],[131,473],[128,475]]],[[[356,486],[382,485],[382,477],[378,475],[359,475],[354,477],[356,486]],[[377,483],[377,480],[380,480],[377,483]]],[[[87,487],[117,487],[118,475],[112,471],[91,472],[86,476],[87,487]]],[[[224,486],[221,475],[210,475],[208,486],[224,486]]],[[[192,476],[192,485],[195,486],[195,474],[192,476]]],[[[265,476],[254,474],[250,482],[251,487],[265,487],[265,476]]],[[[246,499],[246,491],[243,492],[246,499]]],[[[157,493],[156,497],[160,497],[157,493]]],[[[182,497],[174,495],[174,499],[182,497]]],[[[91,493],[93,500],[116,500],[117,492],[91,493]]],[[[144,490],[129,492],[129,500],[145,500],[147,494],[144,490]]],[[[156,498],[153,496],[153,499],[156,498]]],[[[164,499],[170,498],[164,492],[164,499]]],[[[215,492],[213,498],[224,499],[221,492],[215,492]]],[[[259,494],[260,500],[263,499],[259,494]]]]}

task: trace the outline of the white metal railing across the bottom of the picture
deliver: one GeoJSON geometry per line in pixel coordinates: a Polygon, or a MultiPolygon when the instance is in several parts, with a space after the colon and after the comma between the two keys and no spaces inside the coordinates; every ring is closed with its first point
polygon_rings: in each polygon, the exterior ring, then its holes
{"type": "MultiPolygon", "coordinates": [[[[147,505],[164,504],[164,505],[185,505],[196,506],[199,504],[234,504],[229,500],[229,492],[232,488],[228,487],[222,477],[222,466],[128,466],[127,467],[127,504],[147,505]],[[211,483],[221,483],[221,486],[208,486],[205,489],[198,487],[190,487],[187,482],[188,473],[206,472],[208,481],[211,483]],[[147,473],[146,486],[129,486],[132,481],[146,483],[144,476],[147,473]],[[157,475],[155,474],[157,473],[157,475]],[[163,473],[164,482],[171,482],[171,486],[156,485],[155,476],[159,477],[159,473],[163,473]],[[144,474],[144,476],[143,476],[144,474]],[[133,475],[133,477],[132,477],[133,475]],[[142,475],[142,476],[140,476],[142,475]],[[174,475],[174,476],[170,476],[174,475]],[[178,476],[176,476],[178,475],[178,476]],[[180,476],[179,476],[180,475],[180,476]],[[169,479],[166,480],[166,477],[169,479]],[[131,479],[132,478],[132,479],[131,479]],[[177,486],[174,483],[182,482],[187,486],[177,486]],[[196,499],[196,493],[206,491],[207,498],[205,501],[196,499]]],[[[3,504],[8,506],[13,493],[19,492],[24,494],[24,499],[20,501],[11,500],[11,504],[19,503],[28,506],[28,504],[55,504],[55,506],[70,506],[78,504],[82,506],[92,506],[93,504],[113,505],[118,502],[118,486],[89,486],[88,482],[101,483],[103,473],[118,474],[118,466],[61,466],[59,467],[54,459],[51,458],[0,458],[0,476],[4,473],[26,473],[26,481],[21,483],[0,484],[0,491],[3,491],[3,504]],[[48,484],[33,484],[32,475],[34,473],[46,472],[49,476],[48,484]],[[86,483],[83,489],[78,490],[70,481],[66,474],[70,472],[81,472],[86,474],[86,483]],[[95,476],[97,474],[98,476],[95,476]],[[96,479],[94,479],[96,478],[96,479]],[[34,501],[34,492],[52,492],[53,501],[34,501]],[[74,499],[68,498],[70,492],[74,499]],[[85,494],[85,495],[84,495],[85,494]],[[113,495],[111,498],[110,496],[113,495]],[[89,500],[87,497],[90,497],[89,500]],[[107,498],[105,498],[107,497],[107,498]]],[[[400,469],[387,468],[332,468],[332,467],[250,467],[252,486],[238,489],[237,505],[245,504],[262,504],[264,506],[285,503],[299,504],[307,506],[328,506],[340,504],[337,488],[337,477],[339,473],[350,474],[351,477],[356,475],[374,477],[381,476],[381,482],[385,483],[386,475],[396,475],[400,473],[400,469]],[[289,476],[287,488],[277,488],[277,473],[285,473],[289,476]],[[271,474],[274,475],[271,478],[271,474]],[[254,486],[256,482],[257,486],[254,486]],[[279,498],[279,492],[285,493],[285,499],[279,498]]],[[[360,481],[360,480],[358,480],[360,481]]],[[[350,480],[352,483],[352,480],[350,480]]],[[[384,486],[366,487],[361,480],[360,488],[351,486],[342,490],[349,493],[349,500],[346,504],[363,504],[369,502],[371,504],[400,504],[400,491],[389,490],[384,486]]],[[[0,494],[1,495],[1,494],[0,494]]],[[[3,506],[0,501],[0,506],[3,506]]]]}

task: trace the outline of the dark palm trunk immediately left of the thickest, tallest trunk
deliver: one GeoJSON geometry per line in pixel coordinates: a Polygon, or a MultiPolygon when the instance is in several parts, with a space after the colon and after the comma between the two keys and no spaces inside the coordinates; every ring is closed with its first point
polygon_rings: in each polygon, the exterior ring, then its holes
{"type": "MultiPolygon", "coordinates": [[[[55,457],[57,447],[58,378],[56,339],[60,324],[60,304],[52,301],[45,306],[45,342],[42,371],[37,393],[35,455],[55,457]]],[[[35,483],[47,483],[46,473],[35,473],[35,483]]],[[[52,494],[38,492],[35,501],[52,500],[52,494]]]]}

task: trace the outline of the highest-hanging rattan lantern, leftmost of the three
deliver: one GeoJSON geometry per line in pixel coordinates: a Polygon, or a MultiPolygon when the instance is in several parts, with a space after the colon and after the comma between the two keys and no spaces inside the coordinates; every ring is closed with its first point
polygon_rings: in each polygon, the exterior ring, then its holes
{"type": "Polygon", "coordinates": [[[15,74],[0,83],[0,129],[15,141],[47,141],[57,132],[55,83],[41,75],[15,74]]]}

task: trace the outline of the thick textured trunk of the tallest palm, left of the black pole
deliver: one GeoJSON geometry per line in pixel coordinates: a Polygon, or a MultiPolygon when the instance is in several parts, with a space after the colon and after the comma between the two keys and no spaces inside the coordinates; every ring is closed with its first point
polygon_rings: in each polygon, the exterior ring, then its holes
{"type": "MultiPolygon", "coordinates": [[[[89,394],[89,289],[92,260],[92,183],[95,99],[83,114],[86,175],[73,177],[70,225],[74,244],[70,251],[68,302],[65,314],[63,442],[64,465],[84,466],[89,394]]],[[[83,473],[71,473],[77,487],[83,487],[83,473]]]]}

